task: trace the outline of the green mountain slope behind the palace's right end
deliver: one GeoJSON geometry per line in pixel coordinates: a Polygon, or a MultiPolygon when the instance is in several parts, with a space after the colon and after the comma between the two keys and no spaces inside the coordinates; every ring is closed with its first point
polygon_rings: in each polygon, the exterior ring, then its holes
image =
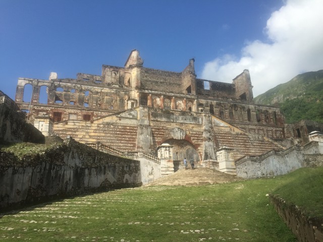
{"type": "Polygon", "coordinates": [[[297,75],[255,97],[254,102],[279,106],[287,124],[301,119],[323,123],[323,70],[297,75]]]}

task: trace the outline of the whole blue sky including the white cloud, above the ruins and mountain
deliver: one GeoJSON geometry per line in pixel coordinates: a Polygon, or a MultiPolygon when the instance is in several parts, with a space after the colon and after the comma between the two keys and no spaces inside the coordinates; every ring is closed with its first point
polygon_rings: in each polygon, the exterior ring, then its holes
{"type": "Polygon", "coordinates": [[[256,96],[323,69],[322,11],[321,0],[0,0],[0,90],[14,99],[19,77],[100,75],[138,49],[154,69],[193,57],[208,80],[249,69],[256,96]]]}

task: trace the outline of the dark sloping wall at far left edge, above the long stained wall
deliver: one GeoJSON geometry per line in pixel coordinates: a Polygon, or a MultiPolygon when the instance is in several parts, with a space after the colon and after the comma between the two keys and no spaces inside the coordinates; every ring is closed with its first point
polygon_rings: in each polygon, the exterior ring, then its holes
{"type": "Polygon", "coordinates": [[[0,104],[0,143],[31,142],[44,143],[44,136],[33,125],[26,122],[21,112],[6,103],[0,104]]]}

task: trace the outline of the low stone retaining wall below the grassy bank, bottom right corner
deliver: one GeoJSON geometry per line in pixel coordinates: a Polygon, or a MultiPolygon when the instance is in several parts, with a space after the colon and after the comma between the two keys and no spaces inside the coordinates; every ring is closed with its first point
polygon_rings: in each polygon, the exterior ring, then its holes
{"type": "Polygon", "coordinates": [[[323,219],[308,218],[297,206],[288,205],[279,197],[271,195],[270,199],[298,241],[323,241],[323,219]]]}

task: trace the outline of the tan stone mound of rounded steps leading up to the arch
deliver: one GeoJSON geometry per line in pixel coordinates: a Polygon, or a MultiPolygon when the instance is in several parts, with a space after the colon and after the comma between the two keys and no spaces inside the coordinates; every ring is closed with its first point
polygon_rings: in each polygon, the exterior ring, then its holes
{"type": "Polygon", "coordinates": [[[243,180],[234,175],[229,175],[218,170],[197,167],[192,169],[180,169],[174,174],[158,178],[147,186],[201,186],[219,183],[230,183],[243,180]]]}

